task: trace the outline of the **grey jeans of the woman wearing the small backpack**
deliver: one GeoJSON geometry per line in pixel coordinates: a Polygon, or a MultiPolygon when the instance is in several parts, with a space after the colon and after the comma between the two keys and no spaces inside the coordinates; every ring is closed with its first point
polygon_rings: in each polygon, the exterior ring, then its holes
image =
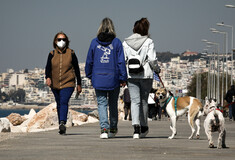
{"type": "Polygon", "coordinates": [[[132,125],[148,126],[148,96],[152,79],[128,79],[132,125]]]}

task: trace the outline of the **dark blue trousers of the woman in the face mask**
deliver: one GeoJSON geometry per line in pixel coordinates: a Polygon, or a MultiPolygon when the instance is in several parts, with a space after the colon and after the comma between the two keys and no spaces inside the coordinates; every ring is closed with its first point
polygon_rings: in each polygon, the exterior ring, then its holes
{"type": "Polygon", "coordinates": [[[51,89],[57,104],[57,114],[59,123],[61,121],[67,122],[68,115],[68,103],[71,95],[73,94],[74,87],[68,87],[63,89],[51,89]]]}

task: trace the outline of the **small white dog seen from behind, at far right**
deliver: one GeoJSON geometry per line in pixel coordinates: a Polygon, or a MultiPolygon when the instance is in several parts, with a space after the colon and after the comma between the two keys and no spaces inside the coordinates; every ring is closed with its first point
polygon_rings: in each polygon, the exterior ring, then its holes
{"type": "Polygon", "coordinates": [[[212,140],[212,132],[219,132],[218,144],[217,148],[220,149],[226,148],[225,145],[225,137],[226,130],[224,126],[224,117],[223,114],[217,109],[217,104],[214,100],[211,102],[206,98],[205,106],[204,106],[204,115],[206,119],[204,121],[205,132],[209,141],[209,147],[214,148],[213,140],[212,140]]]}

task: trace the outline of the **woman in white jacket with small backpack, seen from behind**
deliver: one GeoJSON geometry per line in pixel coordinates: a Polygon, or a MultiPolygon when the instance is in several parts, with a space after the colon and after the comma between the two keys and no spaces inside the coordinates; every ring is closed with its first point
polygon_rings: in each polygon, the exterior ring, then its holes
{"type": "Polygon", "coordinates": [[[148,134],[148,95],[152,88],[153,71],[148,61],[156,59],[154,43],[149,38],[150,23],[141,18],[134,24],[130,37],[123,42],[128,73],[128,88],[131,96],[131,117],[134,139],[148,134]]]}

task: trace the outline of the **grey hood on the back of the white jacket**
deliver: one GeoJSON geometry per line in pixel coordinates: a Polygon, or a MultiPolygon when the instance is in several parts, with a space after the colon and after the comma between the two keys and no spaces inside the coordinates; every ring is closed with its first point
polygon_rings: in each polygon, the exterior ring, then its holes
{"type": "Polygon", "coordinates": [[[130,37],[126,38],[125,41],[128,46],[130,46],[135,51],[138,51],[146,39],[148,39],[148,36],[141,36],[138,33],[134,33],[130,37]]]}

